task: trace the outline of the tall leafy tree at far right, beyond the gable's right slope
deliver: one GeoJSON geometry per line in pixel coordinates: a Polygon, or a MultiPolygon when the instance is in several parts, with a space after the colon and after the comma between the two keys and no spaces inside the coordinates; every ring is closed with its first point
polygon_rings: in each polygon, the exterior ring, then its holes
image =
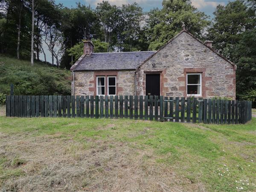
{"type": "Polygon", "coordinates": [[[207,38],[214,42],[213,48],[235,61],[233,55],[242,33],[256,27],[255,11],[242,0],[229,2],[227,6],[218,5],[213,13],[214,23],[209,27],[207,38]]]}

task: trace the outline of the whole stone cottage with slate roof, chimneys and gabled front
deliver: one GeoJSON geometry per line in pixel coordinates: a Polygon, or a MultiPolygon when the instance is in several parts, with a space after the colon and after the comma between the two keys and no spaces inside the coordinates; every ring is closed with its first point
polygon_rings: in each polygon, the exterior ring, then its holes
{"type": "Polygon", "coordinates": [[[236,65],[186,29],[157,51],[84,54],[70,69],[73,95],[236,98],[236,65]]]}

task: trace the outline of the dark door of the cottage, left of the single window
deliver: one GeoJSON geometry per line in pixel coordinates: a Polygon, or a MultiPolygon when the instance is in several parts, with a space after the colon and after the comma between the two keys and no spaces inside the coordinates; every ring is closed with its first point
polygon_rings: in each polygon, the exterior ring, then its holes
{"type": "Polygon", "coordinates": [[[146,95],[160,96],[160,74],[146,74],[146,95]]]}

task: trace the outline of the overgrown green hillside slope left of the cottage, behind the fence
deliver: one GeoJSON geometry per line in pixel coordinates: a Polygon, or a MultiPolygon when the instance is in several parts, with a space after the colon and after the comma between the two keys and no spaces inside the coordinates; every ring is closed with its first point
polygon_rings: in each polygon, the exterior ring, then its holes
{"type": "Polygon", "coordinates": [[[15,95],[70,95],[69,70],[51,67],[43,62],[17,60],[0,55],[0,93],[10,94],[14,84],[15,95]]]}

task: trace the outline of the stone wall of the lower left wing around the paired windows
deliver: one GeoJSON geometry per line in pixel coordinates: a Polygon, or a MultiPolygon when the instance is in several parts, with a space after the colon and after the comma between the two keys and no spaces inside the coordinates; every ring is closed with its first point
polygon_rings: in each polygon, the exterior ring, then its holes
{"type": "Polygon", "coordinates": [[[131,70],[75,71],[75,95],[96,95],[97,76],[116,76],[117,95],[135,95],[135,73],[131,70]]]}

